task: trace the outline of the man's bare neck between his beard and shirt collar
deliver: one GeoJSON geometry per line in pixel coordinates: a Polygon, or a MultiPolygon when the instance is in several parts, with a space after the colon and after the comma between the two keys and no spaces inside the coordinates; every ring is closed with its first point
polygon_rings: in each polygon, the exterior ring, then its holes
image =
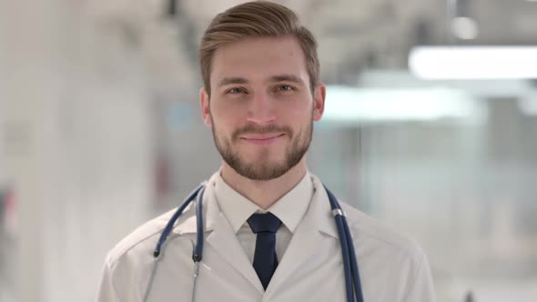
{"type": "Polygon", "coordinates": [[[226,163],[220,169],[220,175],[240,195],[247,197],[262,209],[268,209],[279,198],[285,196],[293,187],[299,184],[306,175],[306,160],[302,158],[297,166],[293,166],[283,176],[270,180],[252,180],[240,176],[226,163]]]}

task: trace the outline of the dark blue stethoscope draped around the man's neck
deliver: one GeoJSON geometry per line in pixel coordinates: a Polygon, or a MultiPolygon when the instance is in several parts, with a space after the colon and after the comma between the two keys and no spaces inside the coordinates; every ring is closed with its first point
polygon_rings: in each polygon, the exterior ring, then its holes
{"type": "MultiPolygon", "coordinates": [[[[196,187],[183,201],[183,204],[177,208],[177,211],[175,214],[169,219],[167,222],[166,227],[160,234],[160,238],[157,242],[157,247],[155,247],[155,251],[153,252],[153,257],[156,258],[155,266],[153,267],[153,271],[151,273],[149,282],[147,284],[146,293],[144,295],[144,301],[147,300],[149,291],[153,284],[153,278],[155,276],[155,272],[157,269],[157,262],[158,257],[160,255],[160,251],[166,242],[167,237],[171,233],[175,223],[177,222],[177,219],[185,208],[192,202],[192,200],[196,199],[196,225],[197,225],[197,234],[196,234],[196,245],[194,246],[194,249],[192,251],[192,260],[194,261],[194,284],[192,286],[192,301],[195,300],[195,294],[196,294],[196,280],[199,275],[199,263],[201,262],[201,259],[203,258],[203,214],[202,214],[202,201],[203,201],[203,193],[205,192],[205,183],[199,185],[196,187]]],[[[363,296],[361,292],[361,283],[360,283],[360,274],[358,271],[358,262],[356,261],[356,253],[354,251],[354,242],[352,240],[352,237],[350,237],[350,230],[349,225],[347,224],[347,218],[345,217],[345,214],[343,213],[343,209],[341,209],[341,206],[339,206],[339,202],[336,199],[336,196],[334,196],[328,188],[325,186],[325,190],[329,196],[329,202],[330,207],[332,209],[332,215],[334,216],[334,219],[336,221],[336,225],[338,227],[338,233],[339,233],[339,243],[341,245],[341,254],[343,257],[343,267],[345,271],[345,289],[347,291],[347,302],[363,302],[363,296]],[[355,296],[356,295],[356,296],[355,296]],[[354,298],[357,298],[355,300],[354,298]]]]}

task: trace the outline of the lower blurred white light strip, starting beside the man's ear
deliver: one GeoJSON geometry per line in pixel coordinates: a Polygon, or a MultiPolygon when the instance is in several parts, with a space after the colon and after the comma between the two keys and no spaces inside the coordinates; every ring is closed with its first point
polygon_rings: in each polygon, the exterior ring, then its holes
{"type": "Polygon", "coordinates": [[[374,122],[485,117],[486,108],[451,88],[355,88],[329,86],[323,120],[374,122]]]}

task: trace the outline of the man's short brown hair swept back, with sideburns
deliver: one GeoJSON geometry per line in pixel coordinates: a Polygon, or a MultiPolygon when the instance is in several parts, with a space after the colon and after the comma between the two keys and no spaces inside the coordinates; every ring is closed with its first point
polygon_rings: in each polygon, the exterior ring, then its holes
{"type": "Polygon", "coordinates": [[[247,37],[294,36],[306,57],[311,91],[319,81],[317,42],[299,17],[289,8],[269,1],[237,5],[218,14],[208,25],[199,46],[199,65],[203,84],[210,96],[211,62],[219,46],[247,37]]]}

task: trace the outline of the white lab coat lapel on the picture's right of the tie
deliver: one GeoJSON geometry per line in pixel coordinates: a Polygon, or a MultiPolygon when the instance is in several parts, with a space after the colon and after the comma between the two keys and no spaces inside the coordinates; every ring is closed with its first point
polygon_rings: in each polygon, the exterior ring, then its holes
{"type": "Polygon", "coordinates": [[[315,193],[311,198],[309,209],[295,230],[285,255],[282,257],[274,276],[270,279],[267,295],[277,292],[279,287],[285,286],[285,280],[311,257],[322,250],[322,241],[326,237],[338,239],[337,228],[331,219],[329,198],[324,186],[314,176],[313,185],[315,193]]]}

